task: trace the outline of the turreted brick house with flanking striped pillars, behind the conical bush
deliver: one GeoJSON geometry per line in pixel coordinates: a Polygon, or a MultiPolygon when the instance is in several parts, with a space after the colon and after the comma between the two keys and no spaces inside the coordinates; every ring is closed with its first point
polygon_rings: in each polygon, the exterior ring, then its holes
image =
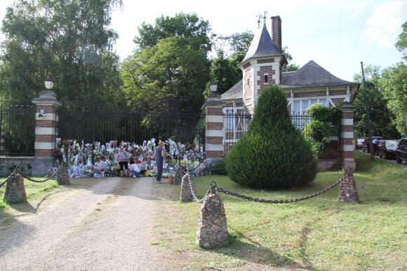
{"type": "Polygon", "coordinates": [[[206,155],[222,158],[228,146],[239,140],[244,132],[243,114],[253,114],[258,97],[268,85],[276,84],[286,90],[291,115],[301,115],[315,103],[342,106],[342,157],[354,168],[352,100],[359,83],[344,81],[310,60],[298,71],[283,72],[288,64],[282,54],[281,18],[272,17],[272,36],[266,25],[255,33],[246,56],[238,67],[243,78],[222,95],[211,95],[204,103],[206,110],[206,155]],[[232,116],[231,118],[224,118],[232,116]],[[239,119],[236,119],[239,118],[239,119]]]}

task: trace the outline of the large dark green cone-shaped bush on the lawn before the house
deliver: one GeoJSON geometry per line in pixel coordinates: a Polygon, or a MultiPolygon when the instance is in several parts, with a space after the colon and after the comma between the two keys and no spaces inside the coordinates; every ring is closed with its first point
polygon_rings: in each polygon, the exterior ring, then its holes
{"type": "Polygon", "coordinates": [[[312,148],[291,123],[286,95],[276,85],[263,90],[248,131],[227,155],[225,167],[236,183],[265,190],[314,179],[312,148]]]}

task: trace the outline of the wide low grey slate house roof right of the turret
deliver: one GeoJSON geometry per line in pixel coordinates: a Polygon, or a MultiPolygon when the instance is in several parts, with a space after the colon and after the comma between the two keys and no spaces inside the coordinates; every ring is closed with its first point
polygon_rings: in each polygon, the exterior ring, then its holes
{"type": "Polygon", "coordinates": [[[342,80],[310,60],[298,71],[283,73],[281,88],[311,88],[332,85],[357,85],[358,83],[342,80]]]}

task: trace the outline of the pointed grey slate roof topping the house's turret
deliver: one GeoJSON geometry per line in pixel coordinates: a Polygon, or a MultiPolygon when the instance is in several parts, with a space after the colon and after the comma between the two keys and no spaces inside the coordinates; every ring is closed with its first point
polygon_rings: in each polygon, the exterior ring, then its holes
{"type": "Polygon", "coordinates": [[[277,50],[274,45],[266,25],[263,25],[258,29],[258,32],[255,33],[253,41],[242,62],[254,57],[271,57],[277,55],[281,55],[281,53],[279,53],[279,50],[277,50]]]}

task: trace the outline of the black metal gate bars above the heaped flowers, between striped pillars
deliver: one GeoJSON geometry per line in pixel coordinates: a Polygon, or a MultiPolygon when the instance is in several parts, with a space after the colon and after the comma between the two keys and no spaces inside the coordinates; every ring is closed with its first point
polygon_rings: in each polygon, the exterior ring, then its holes
{"type": "Polygon", "coordinates": [[[152,138],[173,139],[182,143],[205,144],[204,128],[199,129],[201,114],[160,111],[155,113],[124,111],[58,111],[58,137],[100,141],[125,141],[142,144],[152,138]]]}

